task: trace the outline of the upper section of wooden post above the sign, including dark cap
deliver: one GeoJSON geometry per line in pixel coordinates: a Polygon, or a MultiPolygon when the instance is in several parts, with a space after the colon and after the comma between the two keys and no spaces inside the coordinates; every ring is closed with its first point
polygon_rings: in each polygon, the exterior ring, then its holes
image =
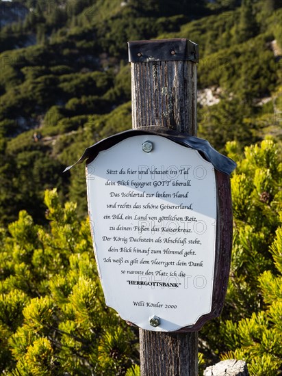
{"type": "Polygon", "coordinates": [[[132,127],[196,136],[198,45],[185,38],[128,42],[132,127]]]}

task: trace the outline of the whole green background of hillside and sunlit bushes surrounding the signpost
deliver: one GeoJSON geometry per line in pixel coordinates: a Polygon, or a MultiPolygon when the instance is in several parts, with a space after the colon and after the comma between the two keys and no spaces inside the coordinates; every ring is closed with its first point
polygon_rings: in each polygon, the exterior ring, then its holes
{"type": "Polygon", "coordinates": [[[238,163],[222,316],[199,336],[200,373],[244,359],[282,373],[279,0],[1,1],[0,370],[139,375],[138,331],[105,306],[84,166],[131,128],[127,41],[199,44],[198,137],[238,163]],[[55,188],[55,189],[54,189],[55,188]]]}

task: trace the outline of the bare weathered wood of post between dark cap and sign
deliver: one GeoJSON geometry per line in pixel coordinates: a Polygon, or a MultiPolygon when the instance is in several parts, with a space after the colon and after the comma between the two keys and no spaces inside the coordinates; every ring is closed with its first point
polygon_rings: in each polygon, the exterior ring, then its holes
{"type": "Polygon", "coordinates": [[[163,126],[196,136],[196,64],[131,63],[132,127],[163,126]]]}

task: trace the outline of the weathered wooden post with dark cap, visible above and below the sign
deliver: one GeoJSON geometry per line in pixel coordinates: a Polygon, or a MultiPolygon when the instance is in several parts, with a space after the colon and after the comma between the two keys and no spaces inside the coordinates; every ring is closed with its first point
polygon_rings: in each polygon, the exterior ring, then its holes
{"type": "MultiPolygon", "coordinates": [[[[129,42],[132,127],[196,136],[198,46],[187,39],[129,42]]],[[[198,332],[140,329],[142,376],[198,375],[198,332]]]]}

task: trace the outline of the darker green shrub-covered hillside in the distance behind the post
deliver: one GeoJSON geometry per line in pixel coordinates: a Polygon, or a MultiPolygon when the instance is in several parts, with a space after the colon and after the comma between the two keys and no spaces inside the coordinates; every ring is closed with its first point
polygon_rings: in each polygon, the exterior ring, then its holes
{"type": "Polygon", "coordinates": [[[5,223],[20,209],[44,221],[43,191],[54,186],[86,215],[81,174],[61,172],[86,146],[131,127],[127,40],[185,37],[199,44],[198,89],[216,92],[218,103],[199,103],[198,135],[218,150],[229,140],[245,146],[277,135],[281,9],[275,2],[244,1],[237,8],[234,1],[23,4],[27,16],[0,33],[5,223]]]}

